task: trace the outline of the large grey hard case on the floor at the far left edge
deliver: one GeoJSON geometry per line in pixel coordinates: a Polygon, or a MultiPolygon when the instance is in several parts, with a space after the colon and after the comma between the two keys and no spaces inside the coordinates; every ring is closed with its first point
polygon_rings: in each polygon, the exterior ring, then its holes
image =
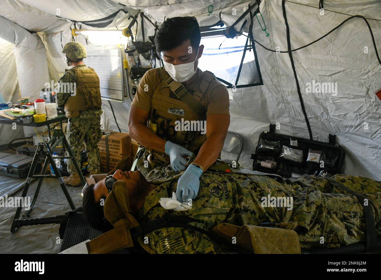
{"type": "MultiPolygon", "coordinates": [[[[33,157],[0,153],[0,175],[14,178],[26,178],[32,165],[33,157]]],[[[36,166],[35,172],[41,171],[41,162],[36,166]]]]}

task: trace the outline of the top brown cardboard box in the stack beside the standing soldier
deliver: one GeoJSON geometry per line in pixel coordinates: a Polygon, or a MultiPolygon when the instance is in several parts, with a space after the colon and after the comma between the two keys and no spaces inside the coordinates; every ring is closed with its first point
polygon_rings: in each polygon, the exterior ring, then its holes
{"type": "Polygon", "coordinates": [[[114,157],[125,157],[131,154],[131,137],[128,133],[112,132],[102,136],[101,141],[98,142],[99,152],[106,153],[106,139],[108,143],[109,155],[114,157]]]}

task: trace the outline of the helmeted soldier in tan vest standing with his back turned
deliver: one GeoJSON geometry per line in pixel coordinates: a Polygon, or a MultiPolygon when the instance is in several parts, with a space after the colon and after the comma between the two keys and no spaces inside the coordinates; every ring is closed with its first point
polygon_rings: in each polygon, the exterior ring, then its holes
{"type": "MultiPolygon", "coordinates": [[[[78,42],[67,43],[62,53],[67,70],[59,80],[59,91],[56,93],[58,107],[64,106],[67,117],[66,138],[78,166],[81,163],[81,147],[86,144],[88,155],[87,169],[90,173],[100,172],[98,142],[102,137],[101,114],[102,101],[99,89],[99,77],[93,68],[83,64],[87,56],[86,48],[78,42]],[[68,90],[68,89],[74,89],[68,90]]],[[[69,156],[66,151],[66,157],[69,156]]],[[[80,177],[70,159],[66,160],[70,176],[64,177],[66,185],[79,186],[80,177]]]]}

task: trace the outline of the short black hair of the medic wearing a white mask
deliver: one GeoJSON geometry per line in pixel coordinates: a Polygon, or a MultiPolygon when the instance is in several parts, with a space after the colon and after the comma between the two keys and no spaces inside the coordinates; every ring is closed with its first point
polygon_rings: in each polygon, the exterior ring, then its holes
{"type": "Polygon", "coordinates": [[[200,45],[201,32],[197,19],[194,16],[169,18],[155,36],[156,52],[160,56],[160,52],[172,50],[188,39],[193,48],[200,45]]]}

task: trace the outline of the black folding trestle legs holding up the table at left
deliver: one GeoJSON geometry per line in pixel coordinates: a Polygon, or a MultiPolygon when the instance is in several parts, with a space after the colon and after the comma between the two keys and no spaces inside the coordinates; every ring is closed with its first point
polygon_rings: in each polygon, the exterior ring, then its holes
{"type": "Polygon", "coordinates": [[[12,222],[12,226],[11,226],[11,232],[14,233],[14,232],[16,232],[16,230],[18,230],[19,227],[24,226],[24,224],[22,223],[23,219],[30,218],[29,213],[34,208],[34,205],[36,203],[38,192],[40,191],[40,187],[41,187],[42,179],[43,178],[57,178],[58,181],[59,181],[59,184],[60,184],[60,186],[62,188],[62,191],[64,192],[64,194],[66,196],[67,202],[69,202],[70,208],[72,210],[75,209],[73,200],[70,197],[70,194],[69,194],[69,192],[66,189],[66,186],[65,186],[64,180],[62,179],[61,173],[59,172],[59,170],[58,170],[58,168],[56,166],[56,163],[54,162],[54,158],[59,158],[59,159],[61,159],[61,158],[70,158],[70,159],[72,159],[72,161],[74,163],[74,166],[75,166],[75,170],[77,170],[77,173],[78,173],[78,175],[79,175],[79,177],[81,179],[82,185],[84,186],[86,184],[85,178],[83,177],[83,174],[82,174],[80,168],[78,167],[78,164],[77,164],[77,162],[76,162],[76,160],[74,158],[74,155],[73,155],[73,153],[72,153],[72,151],[70,149],[69,143],[67,142],[62,129],[56,129],[56,130],[54,130],[53,137],[49,140],[48,143],[40,143],[37,146],[37,149],[36,149],[36,152],[34,154],[33,161],[32,161],[32,165],[30,166],[28,177],[27,177],[25,185],[24,185],[24,190],[22,191],[22,197],[26,197],[28,189],[29,189],[30,182],[34,178],[39,178],[37,189],[36,189],[36,192],[35,192],[35,194],[33,196],[33,200],[30,203],[29,210],[25,211],[20,216],[21,206],[17,208],[16,214],[14,215],[14,218],[13,218],[13,222],[12,222]],[[66,147],[67,152],[69,153],[70,157],[65,157],[65,156],[63,156],[63,157],[53,157],[53,152],[51,151],[51,149],[53,149],[53,147],[56,147],[56,145],[59,142],[61,142],[61,141],[62,141],[62,146],[66,147]],[[33,175],[34,172],[35,172],[35,169],[36,169],[36,166],[37,166],[37,163],[38,163],[38,159],[39,159],[40,156],[46,156],[45,163],[44,163],[42,171],[41,171],[41,175],[33,175]],[[55,175],[45,174],[46,168],[48,167],[48,163],[50,163],[51,167],[53,168],[55,175]]]}

